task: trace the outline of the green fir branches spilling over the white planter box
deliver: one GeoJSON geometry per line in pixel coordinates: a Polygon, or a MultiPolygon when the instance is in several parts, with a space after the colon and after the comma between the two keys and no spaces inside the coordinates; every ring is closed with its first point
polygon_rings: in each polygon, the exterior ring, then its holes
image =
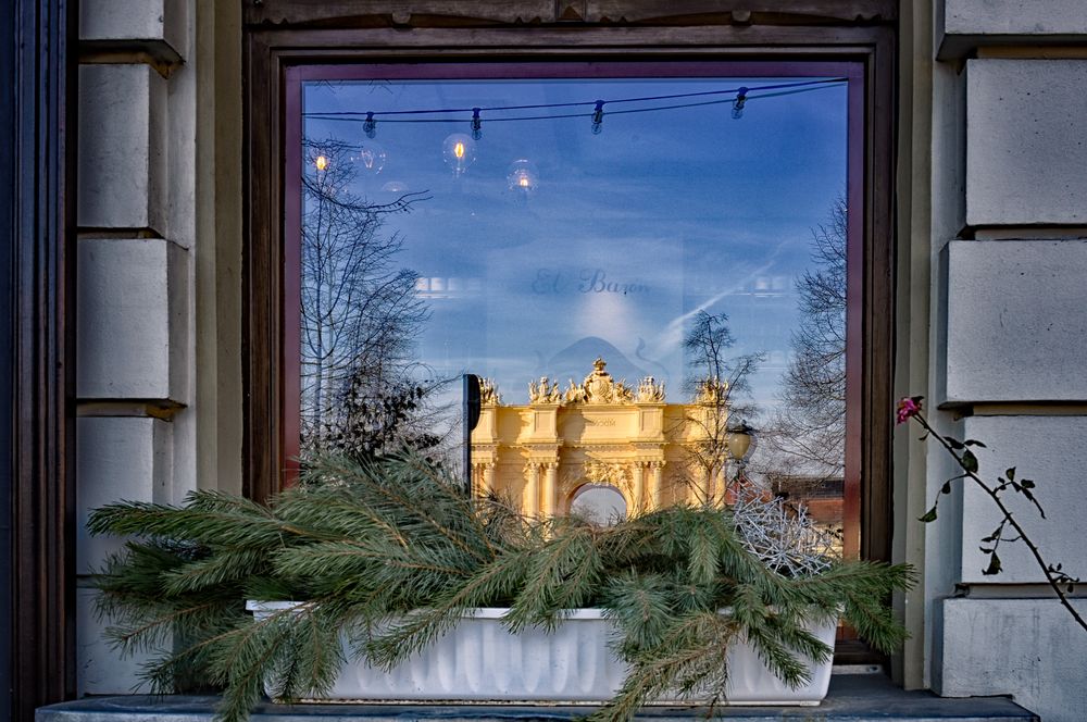
{"type": "Polygon", "coordinates": [[[191,680],[221,688],[225,722],[248,718],[265,680],[288,701],[329,689],[341,634],[390,669],[472,607],[508,607],[512,631],[605,609],[630,667],[599,721],[629,719],[662,693],[714,699],[728,675],[725,650],[740,637],[792,685],[832,653],[805,622],[840,614],[888,651],[905,638],[886,603],[912,584],[905,565],[836,562],[790,577],[746,550],[727,508],[672,507],[599,527],[524,519],[461,489],[405,452],[318,459],[270,507],[196,491],[183,507],[98,509],[92,533],[132,536],[97,577],[100,611],[118,620],[108,634],[129,653],[167,648],[147,681],[158,692],[191,680]],[[246,599],[303,603],[254,622],[246,599]]]}

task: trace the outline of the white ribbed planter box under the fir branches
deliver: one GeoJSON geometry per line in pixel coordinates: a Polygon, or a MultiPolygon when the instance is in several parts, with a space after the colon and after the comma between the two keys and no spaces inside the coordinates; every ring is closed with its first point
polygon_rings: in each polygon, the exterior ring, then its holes
{"type": "MultiPolygon", "coordinates": [[[[255,602],[257,619],[297,602],[255,602]]],[[[448,634],[391,672],[348,660],[326,698],[336,701],[461,701],[600,704],[614,696],[626,672],[608,649],[613,624],[600,609],[578,609],[552,634],[529,628],[510,634],[505,609],[475,609],[448,634]]],[[[812,627],[834,646],[835,626],[812,627]]],[[[812,681],[789,688],[746,644],[728,650],[728,705],[819,705],[830,683],[830,662],[812,670],[812,681]]],[[[653,704],[689,704],[661,699],[653,704]]]]}

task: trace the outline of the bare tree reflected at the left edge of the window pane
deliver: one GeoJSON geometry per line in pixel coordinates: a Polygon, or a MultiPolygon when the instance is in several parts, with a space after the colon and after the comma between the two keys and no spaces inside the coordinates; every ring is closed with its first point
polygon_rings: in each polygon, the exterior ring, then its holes
{"type": "Polygon", "coordinates": [[[413,347],[428,318],[417,274],[398,267],[403,238],[385,229],[428,197],[372,203],[353,190],[350,145],[303,144],[301,413],[303,456],[373,456],[402,443],[432,446],[413,347]]]}

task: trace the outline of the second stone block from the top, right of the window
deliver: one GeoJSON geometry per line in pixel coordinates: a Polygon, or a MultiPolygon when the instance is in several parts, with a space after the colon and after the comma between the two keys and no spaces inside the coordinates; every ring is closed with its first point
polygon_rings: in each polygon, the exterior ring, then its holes
{"type": "Polygon", "coordinates": [[[969,225],[1087,225],[1084,88],[1087,59],[969,62],[969,225]]]}

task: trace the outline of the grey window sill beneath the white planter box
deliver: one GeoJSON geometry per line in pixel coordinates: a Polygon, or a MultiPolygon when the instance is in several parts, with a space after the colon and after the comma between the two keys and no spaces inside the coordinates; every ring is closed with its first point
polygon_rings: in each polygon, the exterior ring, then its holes
{"type": "MultiPolygon", "coordinates": [[[[36,722],[210,722],[215,697],[88,697],[37,710],[36,722]]],[[[564,722],[584,717],[589,707],[530,707],[509,705],[297,705],[264,704],[253,722],[564,722]]],[[[647,722],[699,720],[704,707],[650,707],[637,719],[647,722]]],[[[1039,718],[1007,697],[950,699],[930,692],[905,692],[882,674],[835,675],[830,692],[819,707],[719,707],[713,717],[732,722],[767,720],[911,720],[914,722],[1039,722],[1039,718]]]]}

